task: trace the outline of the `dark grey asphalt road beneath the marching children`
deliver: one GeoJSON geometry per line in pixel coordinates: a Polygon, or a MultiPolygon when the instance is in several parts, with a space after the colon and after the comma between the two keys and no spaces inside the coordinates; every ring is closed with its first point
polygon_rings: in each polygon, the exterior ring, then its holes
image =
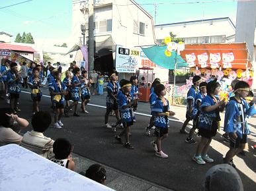
{"type": "MultiPolygon", "coordinates": [[[[47,91],[44,92],[47,93],[47,91]]],[[[1,107],[5,105],[3,101],[0,103],[1,107]]],[[[95,95],[91,103],[105,106],[105,96],[95,95]]],[[[51,111],[50,105],[50,98],[42,97],[40,110],[51,111]]],[[[148,106],[145,103],[141,105],[142,110],[139,109],[139,111],[146,112],[148,106]]],[[[30,94],[21,94],[20,108],[22,111],[19,115],[30,121],[32,113],[30,94]]],[[[185,143],[186,135],[179,133],[181,122],[170,121],[169,137],[163,140],[162,144],[163,151],[169,155],[169,158],[155,157],[150,144],[153,138],[144,135],[144,128],[148,124],[149,117],[142,115],[136,115],[137,122],[132,126],[131,143],[135,149],[127,150],[114,139],[116,133],[103,126],[104,108],[87,106],[87,111],[89,114],[81,113],[80,117],[73,117],[70,112],[70,117],[62,119],[64,128],[56,129],[50,126],[45,135],[53,139],[68,138],[73,142],[74,153],[173,190],[200,190],[206,171],[213,165],[222,163],[223,154],[227,150],[228,143],[223,142],[218,134],[214,138],[216,141],[212,143],[213,148],[210,148],[208,153],[215,160],[214,164],[197,165],[192,161],[196,145],[185,143]]],[[[180,115],[184,114],[177,113],[176,118],[179,119],[180,115]]],[[[115,117],[110,117],[110,123],[114,121],[115,117]]],[[[26,128],[26,130],[30,129],[30,126],[26,128]]],[[[120,132],[121,129],[117,130],[120,132]]],[[[199,141],[200,138],[196,137],[196,140],[199,141]]],[[[239,169],[245,167],[249,169],[249,173],[239,170],[238,172],[245,190],[256,190],[255,176],[252,177],[256,171],[256,153],[255,150],[249,151],[246,156],[237,159],[241,161],[238,165],[239,169]]]]}

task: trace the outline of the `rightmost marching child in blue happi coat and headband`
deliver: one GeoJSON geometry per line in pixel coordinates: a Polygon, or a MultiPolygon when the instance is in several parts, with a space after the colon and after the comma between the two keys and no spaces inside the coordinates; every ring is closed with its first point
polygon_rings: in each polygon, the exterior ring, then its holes
{"type": "Polygon", "coordinates": [[[235,167],[233,157],[245,148],[247,143],[247,134],[249,134],[249,126],[247,117],[256,114],[255,105],[249,105],[245,101],[245,97],[249,94],[249,84],[239,81],[235,84],[234,97],[230,97],[230,101],[226,105],[224,131],[230,136],[230,150],[226,153],[224,163],[229,163],[235,167]]]}

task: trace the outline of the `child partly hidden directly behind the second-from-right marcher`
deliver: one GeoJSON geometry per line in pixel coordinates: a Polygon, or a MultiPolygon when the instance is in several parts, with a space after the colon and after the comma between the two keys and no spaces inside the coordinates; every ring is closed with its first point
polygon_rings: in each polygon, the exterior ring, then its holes
{"type": "Polygon", "coordinates": [[[200,106],[202,103],[202,99],[206,96],[206,86],[207,82],[201,82],[199,85],[200,92],[196,94],[195,101],[194,101],[194,110],[193,110],[193,126],[189,132],[189,136],[186,138],[185,142],[189,144],[196,144],[196,141],[193,140],[192,135],[196,128],[198,128],[198,117],[200,115],[200,106]]]}

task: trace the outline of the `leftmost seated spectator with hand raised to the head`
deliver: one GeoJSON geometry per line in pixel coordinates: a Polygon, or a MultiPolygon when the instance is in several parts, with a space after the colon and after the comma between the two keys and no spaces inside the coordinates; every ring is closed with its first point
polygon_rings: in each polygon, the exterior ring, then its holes
{"type": "Polygon", "coordinates": [[[0,146],[21,144],[22,136],[17,132],[26,128],[29,123],[14,113],[15,111],[8,107],[0,109],[0,146]]]}

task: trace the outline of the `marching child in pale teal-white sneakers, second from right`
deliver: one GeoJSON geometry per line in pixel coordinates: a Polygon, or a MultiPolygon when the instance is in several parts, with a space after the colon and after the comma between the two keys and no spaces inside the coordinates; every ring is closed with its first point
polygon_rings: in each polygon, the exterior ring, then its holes
{"type": "Polygon", "coordinates": [[[216,135],[217,129],[220,127],[220,111],[224,111],[225,107],[225,100],[220,101],[216,96],[220,94],[220,84],[217,79],[208,82],[206,92],[207,95],[202,99],[200,106],[201,112],[198,122],[198,135],[201,136],[201,140],[197,146],[196,154],[192,157],[199,165],[214,162],[214,159],[211,159],[207,153],[212,137],[216,135]]]}

